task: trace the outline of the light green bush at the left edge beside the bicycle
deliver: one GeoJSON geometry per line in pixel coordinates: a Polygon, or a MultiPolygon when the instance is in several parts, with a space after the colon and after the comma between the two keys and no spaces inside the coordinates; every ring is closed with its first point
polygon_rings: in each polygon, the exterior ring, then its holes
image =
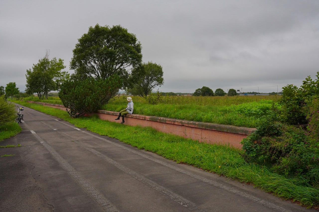
{"type": "Polygon", "coordinates": [[[4,99],[4,95],[0,96],[0,126],[13,122],[17,116],[17,111],[13,104],[4,99]]]}

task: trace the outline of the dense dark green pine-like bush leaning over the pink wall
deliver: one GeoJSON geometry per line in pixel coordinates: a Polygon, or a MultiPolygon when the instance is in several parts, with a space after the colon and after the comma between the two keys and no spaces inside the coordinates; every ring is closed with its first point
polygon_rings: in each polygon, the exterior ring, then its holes
{"type": "Polygon", "coordinates": [[[92,113],[108,103],[119,91],[122,80],[118,76],[106,80],[88,78],[84,81],[65,81],[59,97],[71,117],[77,118],[92,113]],[[68,110],[69,109],[69,110],[68,110]]]}

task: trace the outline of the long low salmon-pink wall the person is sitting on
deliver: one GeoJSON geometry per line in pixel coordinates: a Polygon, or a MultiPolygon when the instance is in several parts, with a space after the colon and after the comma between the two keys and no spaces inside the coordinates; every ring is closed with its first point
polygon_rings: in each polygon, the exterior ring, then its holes
{"type": "MultiPolygon", "coordinates": [[[[44,102],[30,103],[42,104],[52,108],[66,110],[63,105],[50,104],[44,102]]],[[[122,120],[114,120],[118,116],[118,112],[97,110],[92,113],[100,117],[100,119],[108,120],[110,122],[121,122],[122,120]]],[[[91,114],[89,114],[91,115],[91,114]]],[[[229,144],[231,146],[241,148],[240,144],[243,138],[255,131],[255,128],[236,127],[225,124],[211,124],[204,122],[187,121],[174,118],[164,118],[156,116],[143,116],[138,114],[125,115],[125,123],[131,126],[149,126],[158,131],[179,135],[184,138],[198,140],[199,142],[206,142],[209,144],[229,144]]]]}

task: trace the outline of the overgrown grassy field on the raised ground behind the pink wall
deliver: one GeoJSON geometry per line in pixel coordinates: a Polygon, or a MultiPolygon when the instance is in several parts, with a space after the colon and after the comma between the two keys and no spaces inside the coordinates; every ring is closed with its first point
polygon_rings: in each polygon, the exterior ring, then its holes
{"type": "MultiPolygon", "coordinates": [[[[134,114],[184,119],[189,121],[227,124],[256,128],[272,102],[279,96],[164,96],[161,103],[148,104],[144,98],[133,96],[134,114]],[[238,107],[238,108],[237,108],[238,107]]],[[[58,97],[25,100],[62,104],[58,97]]],[[[102,110],[120,111],[126,107],[126,96],[101,107],[102,110]]]]}

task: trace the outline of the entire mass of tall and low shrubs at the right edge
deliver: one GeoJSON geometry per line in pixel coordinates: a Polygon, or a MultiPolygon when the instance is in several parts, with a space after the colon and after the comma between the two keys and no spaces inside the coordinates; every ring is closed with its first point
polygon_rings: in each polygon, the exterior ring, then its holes
{"type": "Polygon", "coordinates": [[[319,72],[316,77],[308,76],[300,88],[284,87],[280,107],[274,106],[241,143],[247,162],[319,189],[319,72]]]}

